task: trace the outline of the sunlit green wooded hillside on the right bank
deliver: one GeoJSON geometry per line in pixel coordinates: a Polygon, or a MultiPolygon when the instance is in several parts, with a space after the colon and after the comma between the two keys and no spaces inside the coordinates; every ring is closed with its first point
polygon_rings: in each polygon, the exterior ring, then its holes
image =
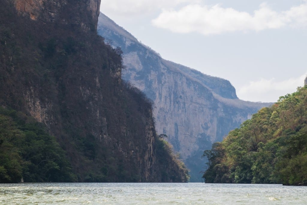
{"type": "Polygon", "coordinates": [[[307,87],[262,108],[203,156],[206,183],[307,185],[307,87]]]}

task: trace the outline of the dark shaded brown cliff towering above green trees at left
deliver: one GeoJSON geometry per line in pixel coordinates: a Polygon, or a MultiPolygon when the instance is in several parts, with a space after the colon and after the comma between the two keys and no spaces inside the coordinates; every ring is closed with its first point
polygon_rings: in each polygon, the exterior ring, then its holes
{"type": "Polygon", "coordinates": [[[78,181],[187,180],[172,156],[159,163],[151,102],[120,80],[119,51],[97,36],[100,0],[1,5],[0,105],[44,123],[78,181]]]}

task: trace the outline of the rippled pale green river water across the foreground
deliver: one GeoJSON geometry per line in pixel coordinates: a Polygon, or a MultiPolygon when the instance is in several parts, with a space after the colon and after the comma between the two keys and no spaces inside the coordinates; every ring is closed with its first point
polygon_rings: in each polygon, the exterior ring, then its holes
{"type": "Polygon", "coordinates": [[[0,204],[307,204],[307,187],[206,183],[0,184],[0,204]]]}

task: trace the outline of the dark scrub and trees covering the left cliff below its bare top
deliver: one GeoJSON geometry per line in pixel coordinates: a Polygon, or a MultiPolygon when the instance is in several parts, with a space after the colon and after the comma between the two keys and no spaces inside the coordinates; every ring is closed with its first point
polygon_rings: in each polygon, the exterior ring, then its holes
{"type": "Polygon", "coordinates": [[[161,182],[169,173],[186,181],[159,164],[152,103],[121,81],[121,51],[80,27],[93,21],[84,1],[69,1],[65,21],[48,24],[0,2],[0,105],[17,111],[1,115],[1,182],[161,182]]]}

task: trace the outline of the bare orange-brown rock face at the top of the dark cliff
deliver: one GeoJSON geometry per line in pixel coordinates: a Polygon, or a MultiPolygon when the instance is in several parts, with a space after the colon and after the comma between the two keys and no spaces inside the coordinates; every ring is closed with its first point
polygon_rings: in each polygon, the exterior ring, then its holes
{"type": "Polygon", "coordinates": [[[19,14],[29,16],[32,20],[39,20],[45,23],[59,21],[64,24],[80,25],[84,29],[97,29],[97,21],[99,16],[100,0],[87,0],[72,3],[70,0],[13,0],[16,10],[19,14]],[[63,13],[66,6],[71,7],[74,15],[63,13]],[[91,14],[91,21],[87,20],[87,15],[83,15],[84,10],[91,14]]]}

